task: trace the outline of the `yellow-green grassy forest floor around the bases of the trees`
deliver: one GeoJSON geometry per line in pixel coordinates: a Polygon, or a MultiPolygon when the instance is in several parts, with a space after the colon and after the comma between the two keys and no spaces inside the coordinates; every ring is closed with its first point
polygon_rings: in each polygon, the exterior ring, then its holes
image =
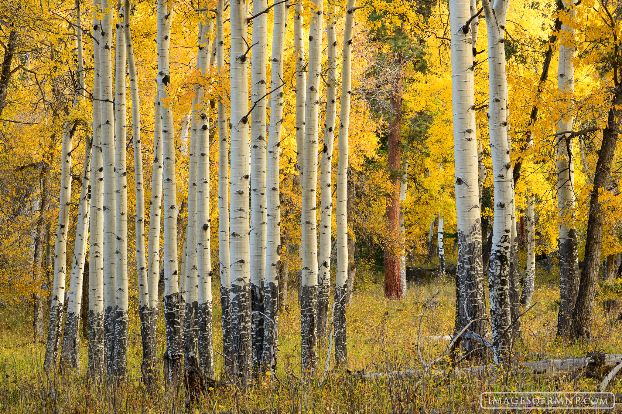
{"type": "MultiPolygon", "coordinates": [[[[422,364],[439,358],[449,343],[443,336],[452,335],[455,284],[451,277],[435,277],[426,284],[409,286],[404,299],[388,301],[383,297],[382,284],[366,281],[362,276],[347,314],[348,368],[360,372],[334,371],[332,356],[330,372],[322,385],[318,385],[318,380],[327,357],[323,340],[318,351],[317,376],[300,380],[299,307],[296,289],[290,287],[289,304],[279,317],[276,374],[260,375],[246,392],[226,386],[211,390],[207,397],[188,405],[183,385],[165,387],[159,382],[149,390],[141,384],[137,315],[131,316],[128,378],[120,383],[100,380],[93,384],[85,375],[84,338],[77,375],[44,372],[45,344],[33,342],[30,305],[7,305],[0,309],[0,413],[470,413],[490,412],[480,407],[482,392],[592,392],[608,372],[551,377],[518,369],[519,362],[578,358],[601,349],[606,354],[622,353],[622,322],[617,321],[617,312],[606,315],[602,307],[603,300],[622,299],[622,280],[601,282],[598,288],[592,341],[567,343],[555,338],[559,306],[556,274],[559,271],[555,268],[550,273],[537,269],[532,304],[537,303],[521,318],[521,338],[514,344],[511,366],[501,371],[489,368],[478,372],[466,368],[491,364],[490,358],[463,361],[457,369],[452,369],[446,359],[427,370],[422,364]],[[427,308],[424,315],[426,302],[437,291],[434,306],[427,308]],[[409,372],[369,378],[369,374],[394,371],[409,372]]],[[[218,292],[216,282],[213,291],[218,292]]],[[[215,351],[221,352],[220,307],[215,304],[214,310],[215,351]]],[[[165,346],[161,319],[160,373],[165,346]]],[[[215,361],[216,376],[224,380],[220,354],[215,353],[215,361]]],[[[622,372],[609,384],[608,392],[622,393],[621,377],[622,372]]]]}

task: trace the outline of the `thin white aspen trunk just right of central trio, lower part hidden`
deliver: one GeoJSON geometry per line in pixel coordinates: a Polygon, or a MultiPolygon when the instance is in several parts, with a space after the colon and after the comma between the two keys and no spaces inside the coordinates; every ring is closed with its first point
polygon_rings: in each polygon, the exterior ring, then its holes
{"type": "MultiPolygon", "coordinates": [[[[294,55],[296,56],[296,169],[300,176],[300,189],[304,188],[304,146],[305,146],[305,91],[307,73],[305,73],[305,32],[302,25],[304,7],[302,0],[296,1],[294,9],[294,55]]],[[[302,216],[300,223],[302,223],[302,216]]],[[[304,249],[304,246],[301,246],[304,249]]]]}

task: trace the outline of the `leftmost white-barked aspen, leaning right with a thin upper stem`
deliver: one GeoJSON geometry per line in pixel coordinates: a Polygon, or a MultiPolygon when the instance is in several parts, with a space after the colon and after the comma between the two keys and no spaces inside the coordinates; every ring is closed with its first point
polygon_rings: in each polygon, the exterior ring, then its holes
{"type": "MultiPolygon", "coordinates": [[[[78,9],[79,11],[79,9],[78,9]]],[[[78,17],[78,12],[75,13],[78,17]]],[[[80,30],[80,29],[78,29],[80,30]]],[[[82,61],[78,62],[81,67],[82,61]]],[[[81,72],[81,71],[80,71],[81,72]]],[[[80,82],[78,82],[80,83],[80,82]]],[[[81,97],[81,86],[77,86],[73,98],[73,109],[78,109],[81,97]]],[[[58,345],[60,342],[60,326],[65,304],[65,277],[67,276],[67,232],[69,230],[69,215],[72,197],[72,146],[73,125],[65,121],[63,131],[63,145],[61,153],[60,197],[58,204],[58,223],[54,244],[54,280],[52,286],[52,300],[50,301],[50,320],[45,345],[44,366],[49,371],[55,370],[58,362],[58,345]]]]}

